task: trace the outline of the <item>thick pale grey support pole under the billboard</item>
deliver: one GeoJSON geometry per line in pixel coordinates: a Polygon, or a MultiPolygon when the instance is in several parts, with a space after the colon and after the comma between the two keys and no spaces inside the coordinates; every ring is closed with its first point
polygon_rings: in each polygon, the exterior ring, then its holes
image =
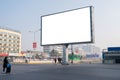
{"type": "Polygon", "coordinates": [[[63,46],[63,62],[62,65],[68,65],[68,44],[63,46]]]}

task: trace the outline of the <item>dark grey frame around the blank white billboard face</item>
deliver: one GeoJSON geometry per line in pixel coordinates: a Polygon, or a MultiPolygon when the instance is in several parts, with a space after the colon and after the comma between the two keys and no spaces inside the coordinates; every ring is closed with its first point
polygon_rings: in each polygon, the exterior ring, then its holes
{"type": "Polygon", "coordinates": [[[57,12],[57,13],[52,13],[52,14],[47,14],[47,15],[42,15],[41,16],[41,34],[40,34],[40,45],[41,46],[55,46],[55,45],[68,45],[68,44],[84,44],[84,43],[94,43],[94,7],[93,6],[86,6],[82,8],[76,8],[76,9],[71,9],[71,10],[66,10],[62,12],[57,12]],[[55,14],[60,14],[60,13],[65,13],[73,10],[78,10],[78,9],[83,9],[83,8],[90,8],[90,41],[84,41],[84,42],[70,42],[70,43],[57,43],[57,44],[42,44],[42,18],[45,16],[50,16],[50,15],[55,15],[55,14]]]}

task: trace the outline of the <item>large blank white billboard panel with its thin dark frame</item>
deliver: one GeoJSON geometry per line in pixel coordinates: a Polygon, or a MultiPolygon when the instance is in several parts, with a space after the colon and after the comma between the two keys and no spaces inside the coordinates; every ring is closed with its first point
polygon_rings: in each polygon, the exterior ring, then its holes
{"type": "Polygon", "coordinates": [[[93,42],[93,7],[41,16],[41,45],[93,42]]]}

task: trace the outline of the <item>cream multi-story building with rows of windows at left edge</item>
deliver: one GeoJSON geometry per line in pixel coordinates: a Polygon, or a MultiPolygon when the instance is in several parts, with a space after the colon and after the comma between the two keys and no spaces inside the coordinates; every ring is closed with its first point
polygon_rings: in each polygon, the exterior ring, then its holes
{"type": "Polygon", "coordinates": [[[0,53],[20,53],[21,33],[0,27],[0,53]]]}

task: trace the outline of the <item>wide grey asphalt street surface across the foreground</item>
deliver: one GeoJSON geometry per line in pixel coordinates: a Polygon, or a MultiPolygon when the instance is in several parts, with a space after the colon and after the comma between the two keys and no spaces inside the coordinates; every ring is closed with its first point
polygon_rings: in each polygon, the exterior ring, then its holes
{"type": "Polygon", "coordinates": [[[0,80],[120,80],[120,64],[13,64],[10,74],[0,64],[0,80]]]}

